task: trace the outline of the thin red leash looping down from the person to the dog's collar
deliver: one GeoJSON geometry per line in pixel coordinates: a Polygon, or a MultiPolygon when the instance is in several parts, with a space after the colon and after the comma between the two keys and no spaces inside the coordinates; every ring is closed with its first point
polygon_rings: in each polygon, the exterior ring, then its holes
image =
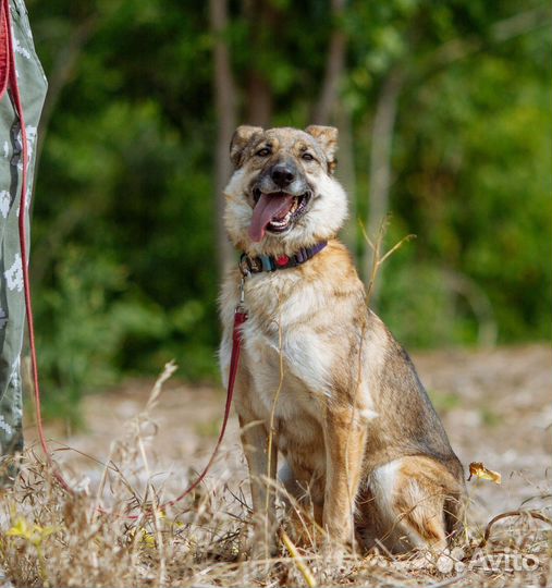
{"type": "MultiPolygon", "coordinates": [[[[23,105],[21,101],[20,89],[17,85],[17,75],[15,71],[15,54],[13,51],[13,39],[12,39],[12,24],[10,15],[10,2],[9,0],[0,0],[0,99],[3,97],[5,90],[9,88],[11,90],[13,105],[21,124],[21,140],[22,140],[22,160],[23,160],[23,172],[21,174],[21,203],[20,203],[20,218],[19,218],[19,230],[20,230],[20,246],[21,246],[21,264],[23,269],[23,289],[25,294],[25,308],[27,314],[27,328],[28,328],[28,341],[30,347],[30,366],[33,371],[33,383],[35,388],[35,407],[36,407],[36,424],[38,429],[38,438],[40,441],[40,446],[46,455],[48,465],[52,466],[53,476],[60,486],[70,494],[74,494],[74,490],[65,481],[61,473],[58,470],[57,466],[53,463],[51,452],[48,448],[48,442],[46,440],[46,434],[44,431],[42,424],[42,414],[40,407],[40,388],[38,383],[38,365],[36,360],[36,344],[35,344],[35,327],[33,320],[33,305],[30,299],[30,281],[28,277],[28,259],[27,259],[27,234],[25,226],[25,208],[26,208],[26,197],[27,197],[27,166],[28,166],[28,150],[27,150],[27,133],[25,127],[25,117],[23,112],[23,105]]],[[[243,283],[242,283],[243,292],[243,283]]],[[[243,294],[242,301],[243,303],[243,294]]],[[[230,375],[229,383],[226,390],[226,405],[224,407],[224,418],[222,420],[222,427],[220,430],[219,439],[214,445],[214,450],[211,454],[211,457],[204,470],[196,480],[188,487],[184,492],[177,495],[175,499],[167,501],[165,503],[159,505],[160,510],[165,509],[167,506],[172,506],[188,495],[193,490],[195,490],[201,481],[207,476],[207,473],[211,468],[214,458],[219,452],[222,439],[226,431],[226,425],[230,418],[230,408],[232,405],[232,397],[234,395],[234,383],[237,375],[237,365],[240,360],[240,350],[242,343],[242,326],[247,320],[247,314],[245,313],[242,304],[236,307],[234,315],[234,328],[232,333],[232,356],[230,360],[230,375]]],[[[102,509],[99,510],[103,514],[108,514],[102,509]]],[[[138,516],[128,516],[131,519],[136,519],[138,516]]]]}

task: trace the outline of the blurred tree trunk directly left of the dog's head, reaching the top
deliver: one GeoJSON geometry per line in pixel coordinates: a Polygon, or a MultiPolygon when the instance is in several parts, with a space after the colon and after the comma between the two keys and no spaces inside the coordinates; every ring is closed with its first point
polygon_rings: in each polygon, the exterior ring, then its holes
{"type": "Polygon", "coordinates": [[[229,181],[230,174],[232,173],[232,166],[229,156],[230,140],[232,139],[232,134],[236,126],[235,86],[230,64],[230,50],[223,36],[228,27],[228,1],[210,0],[209,15],[211,22],[211,33],[214,37],[213,91],[218,119],[214,163],[214,201],[217,215],[217,252],[219,273],[222,274],[234,259],[233,248],[226,237],[223,222],[223,189],[229,181]]]}

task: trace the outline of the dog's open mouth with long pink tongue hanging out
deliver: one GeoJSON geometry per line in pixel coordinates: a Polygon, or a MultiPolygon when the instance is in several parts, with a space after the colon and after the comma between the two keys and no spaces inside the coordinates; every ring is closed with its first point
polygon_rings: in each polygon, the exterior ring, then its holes
{"type": "Polygon", "coordinates": [[[265,233],[283,233],[304,212],[310,200],[310,192],[298,196],[285,192],[262,193],[259,188],[253,191],[255,208],[253,209],[249,236],[253,241],[261,241],[265,233]]]}

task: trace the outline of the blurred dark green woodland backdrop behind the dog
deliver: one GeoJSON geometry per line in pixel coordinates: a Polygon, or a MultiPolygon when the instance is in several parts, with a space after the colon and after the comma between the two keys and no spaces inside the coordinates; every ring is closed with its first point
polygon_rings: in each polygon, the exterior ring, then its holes
{"type": "Polygon", "coordinates": [[[157,372],[217,381],[237,124],[334,124],[364,279],[408,348],[552,334],[551,12],[484,0],[27,0],[49,78],[32,277],[50,415],[157,372]]]}

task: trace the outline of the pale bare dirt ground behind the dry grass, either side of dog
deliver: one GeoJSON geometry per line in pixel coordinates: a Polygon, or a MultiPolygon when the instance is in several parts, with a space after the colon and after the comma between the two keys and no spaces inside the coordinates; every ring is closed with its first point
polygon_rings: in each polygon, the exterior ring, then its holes
{"type": "MultiPolygon", "coordinates": [[[[468,482],[471,543],[475,544],[474,541],[480,539],[486,524],[493,516],[505,511],[539,510],[550,517],[550,347],[531,345],[477,352],[426,352],[413,354],[413,359],[443,419],[451,444],[466,469],[470,462],[483,462],[487,467],[502,475],[500,486],[486,480],[468,482]]],[[[186,486],[189,466],[199,470],[206,463],[214,445],[224,406],[222,390],[209,385],[185,385],[177,381],[176,376],[164,385],[157,406],[150,412],[149,416],[158,425],[158,429],[155,430],[149,421],[140,429],[140,436],[145,439],[144,446],[147,449],[138,457],[147,455],[147,465],[133,473],[135,487],[144,485],[148,474],[154,476],[156,487],[162,485],[163,488],[161,500],[176,495],[179,489],[186,486]],[[171,476],[168,476],[169,471],[172,471],[171,476]]],[[[111,451],[113,461],[116,460],[121,446],[113,445],[112,441],[121,438],[125,422],[144,409],[151,387],[152,381],[133,380],[116,390],[88,396],[85,402],[85,432],[68,436],[59,424],[48,427],[48,436],[57,441],[52,446],[60,449],[66,445],[79,452],[57,452],[57,460],[62,464],[71,483],[88,487],[93,491],[98,487],[102,469],[86,455],[107,461],[111,451]]],[[[28,443],[32,443],[34,434],[29,419],[26,427],[28,443]]],[[[233,417],[221,457],[206,486],[216,489],[219,498],[220,493],[225,491],[246,497],[245,479],[246,468],[240,448],[237,425],[233,417]]],[[[109,501],[108,492],[105,503],[109,504],[109,501]]],[[[229,506],[229,511],[231,510],[229,506]]],[[[181,514],[184,516],[184,513],[181,514]]],[[[531,571],[529,575],[519,572],[525,575],[519,575],[516,580],[517,572],[505,569],[507,565],[503,563],[499,564],[500,569],[494,573],[470,577],[469,583],[466,577],[458,576],[458,580],[464,578],[459,585],[477,585],[491,580],[498,583],[493,585],[510,586],[515,581],[523,585],[549,585],[547,583],[552,581],[548,559],[550,543],[545,548],[545,537],[543,540],[539,535],[547,527],[545,523],[529,520],[528,517],[508,517],[496,524],[493,535],[496,531],[498,536],[506,541],[506,549],[515,551],[524,546],[526,549],[527,535],[524,535],[523,540],[519,538],[519,526],[532,538],[531,544],[536,546],[532,554],[542,560],[536,571],[531,571]],[[520,546],[519,541],[525,542],[524,546],[520,546]]],[[[548,540],[550,541],[550,536],[548,540]]],[[[219,559],[221,558],[219,554],[219,559]]],[[[311,565],[316,569],[316,564],[311,565]]],[[[348,568],[346,573],[348,579],[345,584],[365,585],[363,580],[358,580],[363,576],[355,577],[351,569],[353,568],[348,568]]],[[[296,571],[294,573],[297,574],[296,571]]],[[[206,577],[211,576],[207,574],[206,577]]],[[[302,583],[305,584],[304,576],[297,577],[303,578],[302,583]]],[[[401,583],[404,584],[407,577],[407,574],[403,576],[401,583]]],[[[195,581],[201,584],[197,578],[195,581]]],[[[205,581],[211,585],[209,580],[205,581]]],[[[219,583],[211,581],[212,585],[219,583]]],[[[282,578],[280,581],[283,581],[282,578]]],[[[335,576],[327,581],[328,585],[341,584],[335,576]]],[[[437,578],[427,581],[428,585],[439,583],[437,578]]],[[[445,581],[453,583],[451,579],[445,581]]],[[[270,585],[270,581],[267,579],[265,584],[270,585]]],[[[326,584],[322,581],[322,585],[326,584]]],[[[395,584],[391,581],[388,585],[395,584]]]]}

